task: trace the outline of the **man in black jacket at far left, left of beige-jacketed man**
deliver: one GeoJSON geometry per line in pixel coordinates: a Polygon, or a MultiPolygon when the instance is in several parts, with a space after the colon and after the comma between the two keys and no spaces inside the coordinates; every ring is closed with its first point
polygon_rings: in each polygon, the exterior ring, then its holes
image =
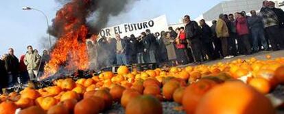
{"type": "Polygon", "coordinates": [[[5,68],[9,76],[9,86],[13,86],[18,82],[19,59],[14,55],[14,49],[9,48],[8,56],[5,59],[5,68]]]}

